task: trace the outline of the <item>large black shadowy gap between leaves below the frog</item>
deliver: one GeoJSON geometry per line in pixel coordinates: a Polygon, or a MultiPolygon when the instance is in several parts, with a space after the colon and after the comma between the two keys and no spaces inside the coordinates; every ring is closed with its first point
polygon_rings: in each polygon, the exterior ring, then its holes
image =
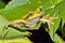
{"type": "Polygon", "coordinates": [[[29,39],[34,43],[53,43],[50,39],[49,33],[44,30],[42,24],[41,27],[38,30],[31,30],[32,34],[29,37],[29,39]]]}

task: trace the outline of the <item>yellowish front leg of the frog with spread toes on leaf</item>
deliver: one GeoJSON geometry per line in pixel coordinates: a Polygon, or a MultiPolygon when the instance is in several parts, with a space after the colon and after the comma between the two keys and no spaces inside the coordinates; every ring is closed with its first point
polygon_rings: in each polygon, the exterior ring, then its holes
{"type": "Polygon", "coordinates": [[[50,26],[50,25],[54,25],[53,20],[56,18],[57,17],[55,17],[54,15],[53,16],[46,15],[46,16],[42,16],[42,18],[40,18],[40,22],[42,22],[43,24],[47,23],[48,26],[50,26]]]}

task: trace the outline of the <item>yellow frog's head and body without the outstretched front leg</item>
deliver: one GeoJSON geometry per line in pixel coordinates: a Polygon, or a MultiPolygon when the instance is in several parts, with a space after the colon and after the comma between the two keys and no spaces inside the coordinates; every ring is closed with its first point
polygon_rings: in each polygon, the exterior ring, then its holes
{"type": "Polygon", "coordinates": [[[41,17],[41,9],[37,9],[34,12],[29,12],[23,19],[15,19],[13,22],[10,22],[6,27],[10,26],[26,26],[26,27],[34,27],[41,17]]]}

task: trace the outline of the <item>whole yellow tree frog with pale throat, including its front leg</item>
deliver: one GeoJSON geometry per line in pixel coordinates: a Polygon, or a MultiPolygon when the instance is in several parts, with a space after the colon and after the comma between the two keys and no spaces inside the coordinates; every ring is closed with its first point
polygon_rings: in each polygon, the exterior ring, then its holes
{"type": "Polygon", "coordinates": [[[14,27],[22,27],[22,26],[26,26],[26,27],[35,27],[36,24],[38,22],[43,22],[47,23],[49,26],[52,24],[53,25],[53,19],[55,19],[56,17],[55,16],[42,16],[42,13],[41,13],[41,9],[38,8],[36,11],[32,11],[32,12],[29,12],[23,19],[15,19],[13,22],[11,22],[10,24],[8,24],[6,26],[10,27],[10,26],[14,26],[14,27]]]}

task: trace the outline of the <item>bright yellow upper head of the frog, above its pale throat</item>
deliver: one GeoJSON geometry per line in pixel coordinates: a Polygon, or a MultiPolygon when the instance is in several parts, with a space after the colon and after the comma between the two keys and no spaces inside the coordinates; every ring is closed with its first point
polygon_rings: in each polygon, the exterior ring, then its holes
{"type": "Polygon", "coordinates": [[[29,12],[28,15],[24,19],[32,19],[32,18],[38,17],[38,16],[41,16],[41,9],[40,8],[38,8],[34,12],[29,12]]]}

